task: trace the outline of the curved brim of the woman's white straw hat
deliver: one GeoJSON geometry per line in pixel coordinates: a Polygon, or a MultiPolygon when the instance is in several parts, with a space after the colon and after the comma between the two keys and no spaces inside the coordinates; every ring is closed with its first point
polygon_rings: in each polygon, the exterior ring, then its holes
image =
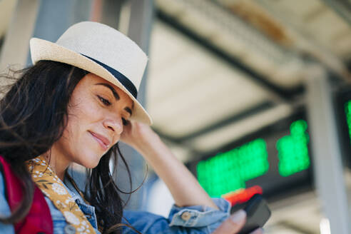
{"type": "Polygon", "coordinates": [[[146,123],[148,125],[152,124],[151,117],[148,115],[143,106],[141,106],[138,100],[136,100],[136,98],[134,98],[134,96],[123,86],[123,84],[103,66],[99,65],[95,61],[92,61],[91,59],[88,59],[86,56],[78,54],[76,51],[71,51],[70,49],[55,44],[51,41],[32,38],[30,40],[30,47],[31,60],[34,64],[40,60],[67,63],[94,73],[96,76],[100,76],[106,81],[113,83],[118,88],[121,88],[121,90],[127,93],[134,103],[131,120],[146,123]]]}

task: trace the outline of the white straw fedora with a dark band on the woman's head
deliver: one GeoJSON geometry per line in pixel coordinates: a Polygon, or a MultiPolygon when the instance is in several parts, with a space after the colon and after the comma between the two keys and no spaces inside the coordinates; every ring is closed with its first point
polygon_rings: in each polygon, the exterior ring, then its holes
{"type": "Polygon", "coordinates": [[[32,38],[31,60],[59,61],[101,76],[121,88],[134,102],[132,120],[152,124],[136,100],[148,57],[121,32],[104,24],[84,21],[68,28],[53,43],[32,38]]]}

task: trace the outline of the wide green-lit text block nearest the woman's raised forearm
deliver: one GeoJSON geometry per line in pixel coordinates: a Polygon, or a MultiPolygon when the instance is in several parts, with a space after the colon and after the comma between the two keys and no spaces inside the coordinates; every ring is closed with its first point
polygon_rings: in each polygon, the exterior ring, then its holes
{"type": "Polygon", "coordinates": [[[225,153],[219,153],[197,166],[198,181],[212,197],[219,197],[239,188],[245,181],[268,171],[267,146],[256,139],[225,153]]]}

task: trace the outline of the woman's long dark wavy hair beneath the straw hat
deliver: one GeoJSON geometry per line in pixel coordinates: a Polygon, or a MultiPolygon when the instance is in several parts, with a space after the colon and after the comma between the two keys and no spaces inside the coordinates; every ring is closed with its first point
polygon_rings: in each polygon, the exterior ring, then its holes
{"type": "MultiPolygon", "coordinates": [[[[14,80],[16,73],[21,76],[0,101],[0,154],[23,181],[24,198],[9,217],[0,218],[2,223],[16,223],[29,212],[34,185],[25,162],[46,153],[61,138],[68,122],[68,102],[77,83],[88,72],[66,63],[39,61],[6,78],[14,80]]],[[[108,170],[111,158],[116,170],[118,157],[126,165],[131,185],[131,173],[117,144],[88,173],[86,183],[85,198],[96,208],[103,233],[120,233],[123,226],[125,204],[120,193],[127,192],[118,188],[108,170]]]]}

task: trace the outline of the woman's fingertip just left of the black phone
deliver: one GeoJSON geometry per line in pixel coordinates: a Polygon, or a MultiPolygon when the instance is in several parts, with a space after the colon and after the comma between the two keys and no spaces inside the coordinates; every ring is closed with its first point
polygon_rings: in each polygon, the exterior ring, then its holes
{"type": "MultiPolygon", "coordinates": [[[[239,210],[230,215],[212,234],[235,234],[245,225],[246,213],[239,210]]],[[[256,234],[256,233],[255,233],[256,234]]]]}

